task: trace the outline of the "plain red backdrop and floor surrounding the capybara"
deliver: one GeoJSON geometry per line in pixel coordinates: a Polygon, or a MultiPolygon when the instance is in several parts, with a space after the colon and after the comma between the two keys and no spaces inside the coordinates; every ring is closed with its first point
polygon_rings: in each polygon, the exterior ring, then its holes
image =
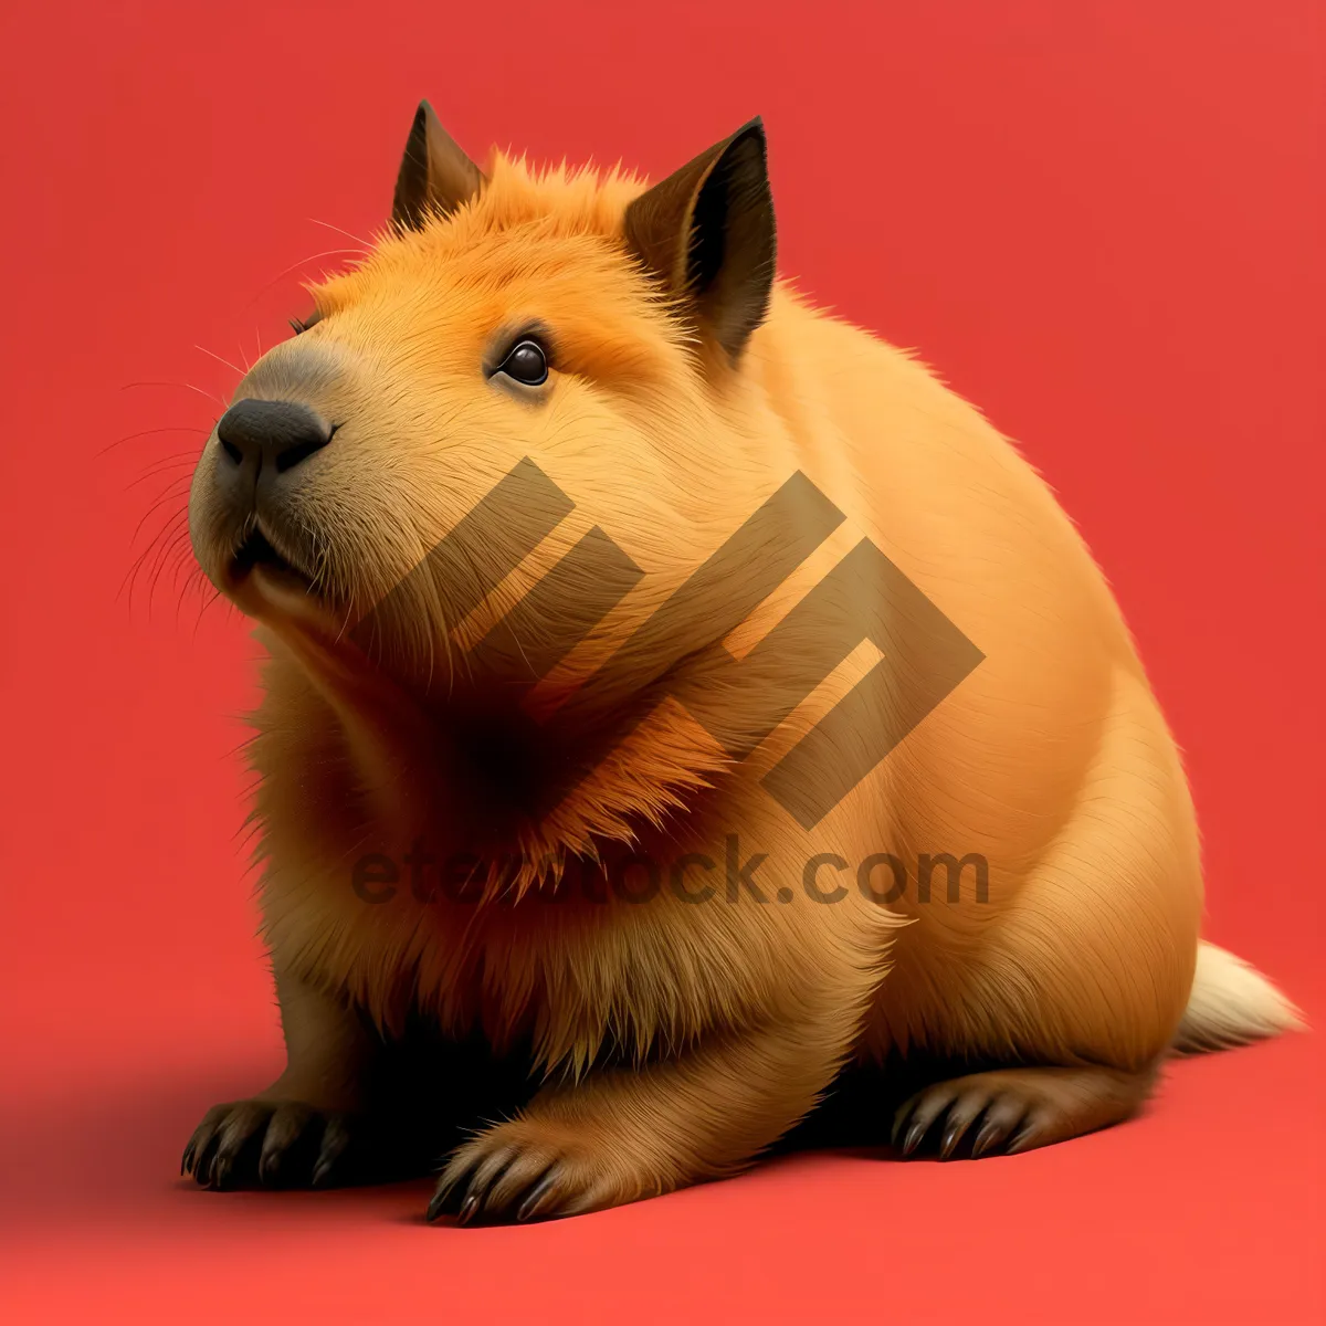
{"type": "Polygon", "coordinates": [[[426,1228],[427,1185],[178,1181],[203,1109],[280,1054],[236,834],[253,647],[168,572],[151,607],[150,574],[122,591],[219,358],[305,310],[337,261],[310,255],[353,245],[329,227],[382,220],[420,95],[475,154],[655,175],[762,113],[785,272],[918,346],[1058,489],[1187,751],[1209,934],[1311,1014],[1317,11],[5,7],[9,1319],[1321,1318],[1313,1037],[1176,1066],[1143,1120],[1012,1160],[797,1156],[538,1228],[426,1228]]]}

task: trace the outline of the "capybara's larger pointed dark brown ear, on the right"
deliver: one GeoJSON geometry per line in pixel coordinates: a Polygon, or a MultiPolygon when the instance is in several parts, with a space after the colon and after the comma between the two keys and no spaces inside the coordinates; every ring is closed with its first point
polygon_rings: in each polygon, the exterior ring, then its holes
{"type": "Polygon", "coordinates": [[[735,362],[764,321],[776,233],[764,123],[731,138],[626,208],[626,243],[735,362]]]}

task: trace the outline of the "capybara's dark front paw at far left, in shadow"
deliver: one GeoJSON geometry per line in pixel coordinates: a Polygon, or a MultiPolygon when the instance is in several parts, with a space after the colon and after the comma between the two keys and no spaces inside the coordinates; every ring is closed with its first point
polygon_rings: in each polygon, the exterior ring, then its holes
{"type": "Polygon", "coordinates": [[[361,1132],[353,1115],[296,1101],[235,1101],[203,1116],[180,1174],[203,1188],[320,1188],[346,1181],[361,1132]]]}

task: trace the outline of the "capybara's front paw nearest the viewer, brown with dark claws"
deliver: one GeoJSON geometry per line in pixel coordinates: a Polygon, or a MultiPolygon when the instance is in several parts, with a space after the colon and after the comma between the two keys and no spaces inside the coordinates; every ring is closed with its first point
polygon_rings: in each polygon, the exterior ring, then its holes
{"type": "Polygon", "coordinates": [[[550,1220],[634,1201],[671,1187],[626,1147],[562,1123],[499,1123],[456,1150],[428,1219],[455,1211],[460,1224],[550,1220]]]}

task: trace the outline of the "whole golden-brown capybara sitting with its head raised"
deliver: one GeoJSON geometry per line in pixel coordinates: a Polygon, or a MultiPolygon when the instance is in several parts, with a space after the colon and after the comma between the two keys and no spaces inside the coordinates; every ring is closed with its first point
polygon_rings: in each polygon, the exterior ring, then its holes
{"type": "Polygon", "coordinates": [[[1046,484],[774,257],[760,121],[647,187],[480,168],[424,103],[239,383],[190,526],[268,651],[288,1066],[200,1184],[589,1212],[867,1070],[882,1144],[991,1156],[1296,1025],[1199,939],[1179,753],[1046,484]]]}

